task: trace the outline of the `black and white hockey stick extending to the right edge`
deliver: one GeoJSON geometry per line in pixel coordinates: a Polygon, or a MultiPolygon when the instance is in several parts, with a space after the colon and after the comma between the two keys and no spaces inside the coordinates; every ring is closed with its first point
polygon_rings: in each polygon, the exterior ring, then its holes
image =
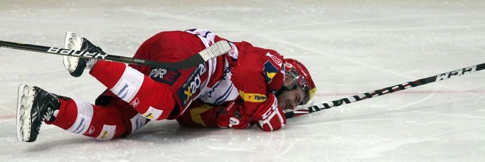
{"type": "Polygon", "coordinates": [[[442,74],[435,75],[435,76],[432,76],[432,77],[425,77],[425,78],[422,78],[420,80],[415,80],[413,82],[405,82],[405,83],[400,84],[400,85],[385,87],[385,88],[380,89],[380,90],[365,92],[365,93],[361,93],[359,95],[354,95],[354,96],[351,96],[351,97],[337,99],[337,100],[334,100],[334,101],[331,101],[331,102],[326,102],[326,103],[323,103],[323,104],[316,104],[314,106],[307,107],[307,109],[297,109],[297,110],[294,110],[293,112],[284,113],[284,116],[287,117],[287,119],[292,118],[292,117],[298,117],[298,116],[304,115],[304,114],[319,112],[322,109],[330,109],[331,107],[339,107],[342,104],[350,104],[352,102],[358,102],[358,101],[361,101],[363,99],[378,97],[378,96],[386,95],[386,94],[389,94],[389,93],[392,93],[392,92],[398,92],[400,90],[406,90],[406,89],[409,89],[411,87],[426,85],[426,84],[431,83],[431,82],[438,82],[438,81],[449,79],[450,77],[465,75],[465,74],[468,74],[468,73],[471,73],[471,72],[476,72],[476,71],[484,70],[484,69],[485,69],[485,63],[481,63],[479,65],[474,65],[474,66],[470,66],[470,67],[467,67],[467,68],[461,68],[461,69],[453,70],[453,71],[450,71],[450,72],[444,72],[442,74]]]}

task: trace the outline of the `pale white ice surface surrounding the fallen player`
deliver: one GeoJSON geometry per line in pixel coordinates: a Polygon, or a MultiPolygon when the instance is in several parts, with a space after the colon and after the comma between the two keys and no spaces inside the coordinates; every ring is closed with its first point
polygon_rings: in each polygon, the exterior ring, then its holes
{"type": "MultiPolygon", "coordinates": [[[[481,0],[0,0],[3,41],[62,47],[74,31],[132,56],[155,33],[188,28],[301,60],[318,88],[307,106],[485,61],[481,0]]],[[[105,87],[71,77],[58,55],[1,48],[0,161],[484,161],[484,81],[475,72],[294,117],[270,133],[152,121],[95,141],[43,124],[27,144],[14,130],[20,83],[89,102],[105,87]]]]}

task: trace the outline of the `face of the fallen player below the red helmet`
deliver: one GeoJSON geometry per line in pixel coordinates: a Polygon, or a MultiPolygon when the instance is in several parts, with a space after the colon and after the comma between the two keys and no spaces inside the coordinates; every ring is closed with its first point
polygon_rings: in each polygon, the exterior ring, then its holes
{"type": "Polygon", "coordinates": [[[303,102],[305,92],[302,89],[285,90],[277,96],[278,106],[283,110],[294,109],[303,102]]]}

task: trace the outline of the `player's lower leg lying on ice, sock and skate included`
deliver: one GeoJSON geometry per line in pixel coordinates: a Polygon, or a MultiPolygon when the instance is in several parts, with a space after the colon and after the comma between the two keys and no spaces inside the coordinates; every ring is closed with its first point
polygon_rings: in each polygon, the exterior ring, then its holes
{"type": "Polygon", "coordinates": [[[19,87],[17,108],[18,141],[36,141],[42,122],[75,134],[109,140],[127,136],[148,120],[122,101],[106,106],[92,105],[46,92],[38,87],[19,87]]]}

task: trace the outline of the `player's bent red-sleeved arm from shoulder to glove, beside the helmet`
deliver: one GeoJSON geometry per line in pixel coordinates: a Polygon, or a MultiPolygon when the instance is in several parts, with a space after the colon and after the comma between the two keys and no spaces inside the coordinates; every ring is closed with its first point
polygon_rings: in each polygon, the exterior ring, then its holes
{"type": "Polygon", "coordinates": [[[244,100],[245,114],[250,117],[250,122],[264,131],[275,131],[286,124],[284,112],[273,94],[283,83],[283,58],[273,50],[265,53],[246,55],[238,60],[232,80],[244,100]]]}

